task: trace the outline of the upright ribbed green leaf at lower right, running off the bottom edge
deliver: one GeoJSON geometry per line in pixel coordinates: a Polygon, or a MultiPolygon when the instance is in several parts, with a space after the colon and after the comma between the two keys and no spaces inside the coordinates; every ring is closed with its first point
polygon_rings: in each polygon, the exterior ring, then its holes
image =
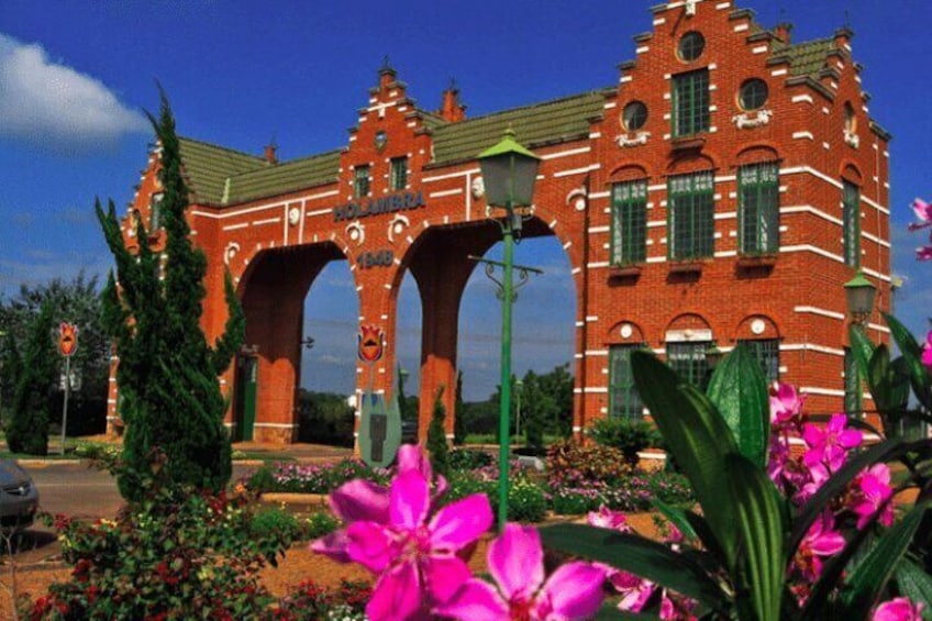
{"type": "MultiPolygon", "coordinates": [[[[731,491],[737,499],[741,529],[740,567],[734,579],[751,591],[748,608],[758,621],[778,621],[784,590],[784,525],[777,490],[763,468],[730,455],[731,491]]],[[[739,602],[741,606],[741,602],[739,602]]]]}

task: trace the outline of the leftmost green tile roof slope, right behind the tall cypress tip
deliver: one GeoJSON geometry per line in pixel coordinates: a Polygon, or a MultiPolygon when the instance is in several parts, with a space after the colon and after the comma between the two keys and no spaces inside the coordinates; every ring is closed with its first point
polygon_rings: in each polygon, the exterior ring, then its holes
{"type": "Polygon", "coordinates": [[[178,143],[188,184],[202,204],[221,203],[226,178],[231,175],[268,166],[262,157],[232,148],[180,136],[178,143]]]}

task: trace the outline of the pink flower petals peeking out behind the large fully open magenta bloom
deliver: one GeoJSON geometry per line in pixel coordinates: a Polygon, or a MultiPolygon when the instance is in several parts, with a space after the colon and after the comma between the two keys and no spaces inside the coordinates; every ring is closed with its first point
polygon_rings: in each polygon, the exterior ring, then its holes
{"type": "MultiPolygon", "coordinates": [[[[398,473],[414,470],[431,480],[433,470],[420,445],[402,444],[398,450],[398,473]]],[[[435,497],[447,489],[446,479],[437,477],[435,497]]],[[[353,479],[330,495],[330,508],[344,524],[354,522],[388,523],[389,490],[365,479],[353,479]]],[[[311,543],[311,551],[323,554],[339,563],[350,563],[346,553],[346,530],[341,529],[311,543]]]]}

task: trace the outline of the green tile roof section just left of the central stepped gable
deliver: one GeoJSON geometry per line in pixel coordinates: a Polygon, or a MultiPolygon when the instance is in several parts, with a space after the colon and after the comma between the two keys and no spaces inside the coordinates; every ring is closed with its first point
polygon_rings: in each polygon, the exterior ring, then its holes
{"type": "Polygon", "coordinates": [[[336,181],[340,169],[340,151],[291,159],[274,166],[265,165],[230,177],[229,190],[223,204],[284,195],[336,181]]]}

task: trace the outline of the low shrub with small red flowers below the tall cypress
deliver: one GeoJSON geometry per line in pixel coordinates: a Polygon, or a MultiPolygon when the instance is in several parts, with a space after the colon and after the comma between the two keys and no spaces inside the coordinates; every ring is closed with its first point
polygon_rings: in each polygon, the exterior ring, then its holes
{"type": "MultiPolygon", "coordinates": [[[[156,457],[156,466],[164,456],[156,457]]],[[[118,518],[59,517],[62,556],[73,566],[27,610],[33,620],[257,619],[273,598],[259,572],[291,544],[287,518],[257,518],[253,499],[143,479],[143,499],[118,518]],[[67,612],[62,612],[67,611],[67,612]]]]}

